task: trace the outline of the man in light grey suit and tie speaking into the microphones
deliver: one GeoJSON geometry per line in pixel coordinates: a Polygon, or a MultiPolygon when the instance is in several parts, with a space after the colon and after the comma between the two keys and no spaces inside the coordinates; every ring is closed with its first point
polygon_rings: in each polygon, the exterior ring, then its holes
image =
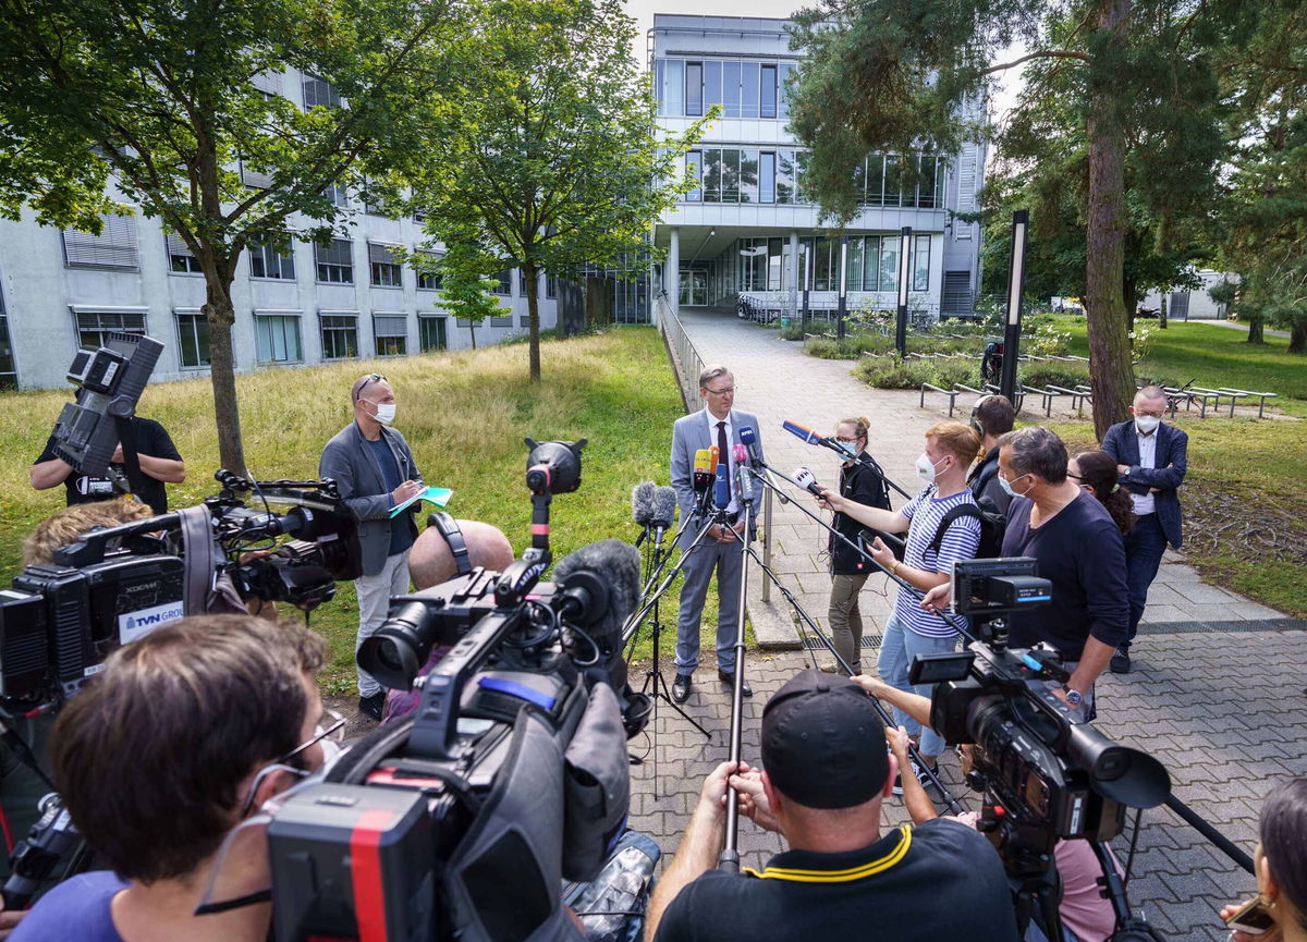
{"type": "MultiPolygon", "coordinates": [[[[691,520],[681,533],[680,546],[689,551],[685,559],[685,585],[681,588],[681,615],[676,631],[676,681],[672,683],[672,699],[685,703],[690,696],[690,677],[699,665],[699,618],[708,593],[712,571],[718,572],[718,677],[723,683],[735,683],[735,639],[740,623],[740,576],[744,571],[744,555],[740,540],[744,534],[744,513],[736,493],[736,466],[731,457],[731,447],[741,444],[740,430],[752,427],[758,431],[758,419],[746,412],[732,409],[735,404],[735,376],[724,366],[710,366],[699,374],[699,396],[707,404],[703,412],[685,415],[676,421],[672,429],[672,487],[676,489],[681,504],[681,519],[695,517],[697,500],[694,493],[694,452],[718,446],[720,460],[727,461],[731,470],[731,504],[727,507],[728,525],[714,524],[699,545],[687,547],[694,541],[702,520],[691,520]]],[[[758,449],[762,451],[762,436],[758,436],[758,449]]],[[[762,487],[754,489],[752,500],[750,537],[757,532],[758,508],[762,506],[762,487]]],[[[744,695],[753,696],[753,689],[744,683],[744,695]]]]}

